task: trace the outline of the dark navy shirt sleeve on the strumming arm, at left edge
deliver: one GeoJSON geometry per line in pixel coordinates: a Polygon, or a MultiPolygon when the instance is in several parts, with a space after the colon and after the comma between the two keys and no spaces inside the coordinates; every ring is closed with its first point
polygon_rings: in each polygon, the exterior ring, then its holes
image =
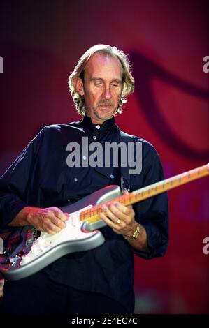
{"type": "Polygon", "coordinates": [[[43,138],[42,130],[23,149],[14,163],[0,178],[0,229],[7,225],[27,205],[27,185],[33,170],[38,147],[43,138]]]}

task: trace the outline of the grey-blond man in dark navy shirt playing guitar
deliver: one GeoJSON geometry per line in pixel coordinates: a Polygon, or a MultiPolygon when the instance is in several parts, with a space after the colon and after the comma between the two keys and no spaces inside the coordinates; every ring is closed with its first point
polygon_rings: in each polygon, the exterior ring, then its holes
{"type": "MultiPolygon", "coordinates": [[[[120,131],[114,116],[134,91],[127,56],[109,45],[91,47],[69,77],[82,121],[46,126],[1,177],[1,228],[33,225],[56,234],[66,226],[59,207],[110,184],[134,191],[163,179],[159,156],[149,142],[120,131]],[[140,174],[119,165],[68,167],[66,145],[87,137],[89,144],[123,141],[142,144],[140,174]]],[[[83,156],[85,163],[87,158],[83,156]]],[[[129,166],[129,165],[127,165],[129,166]]],[[[69,218],[70,219],[70,218],[69,218]]],[[[133,313],[134,253],[150,259],[164,255],[168,243],[166,194],[134,207],[103,205],[101,232],[106,242],[91,251],[66,255],[42,271],[6,283],[3,313],[133,313]]]]}

